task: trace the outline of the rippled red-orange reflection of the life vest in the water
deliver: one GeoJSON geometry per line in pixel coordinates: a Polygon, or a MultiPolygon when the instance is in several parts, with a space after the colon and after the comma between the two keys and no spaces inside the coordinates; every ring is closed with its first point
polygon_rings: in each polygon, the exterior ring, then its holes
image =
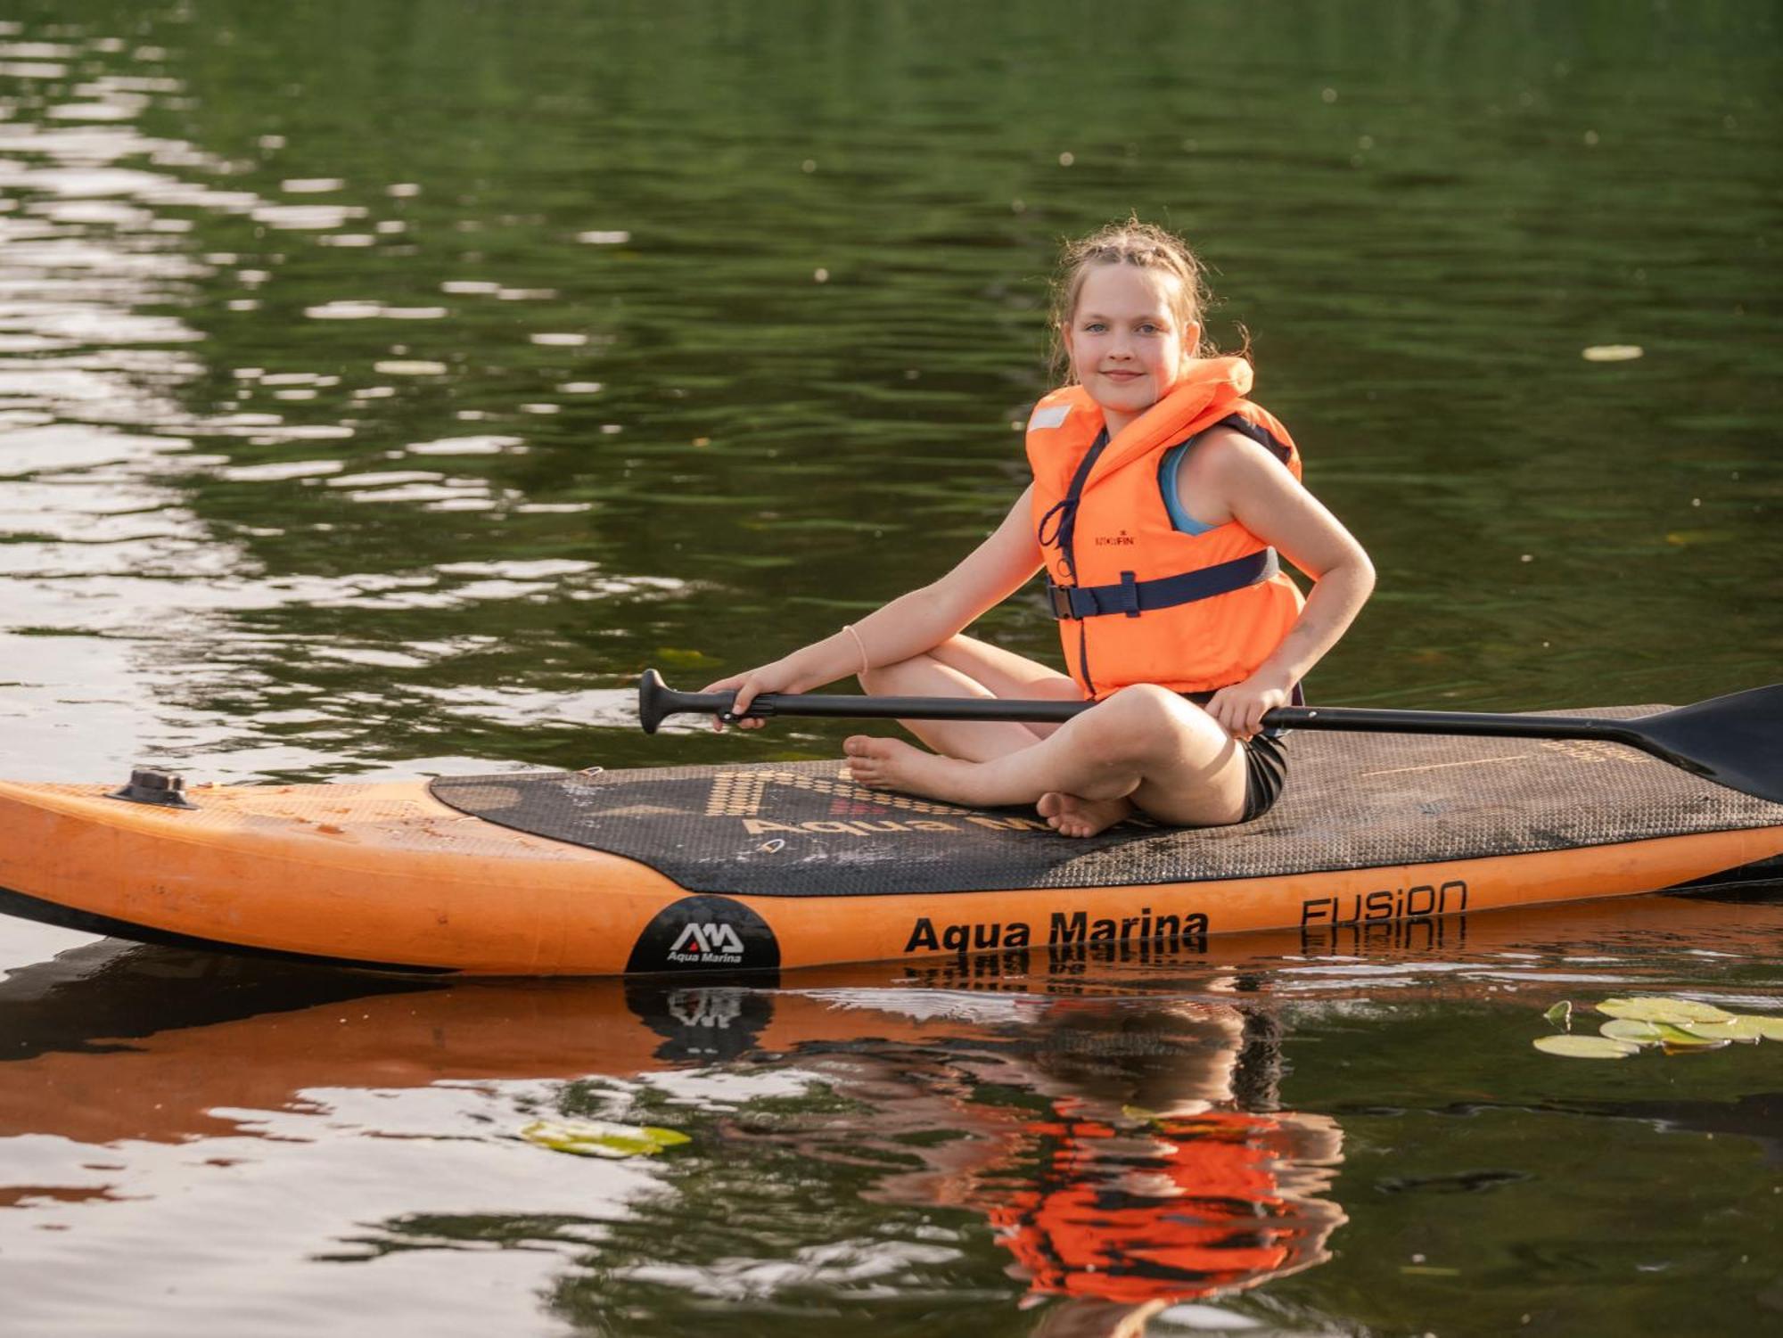
{"type": "Polygon", "coordinates": [[[1182,1301],[1253,1286],[1323,1258],[1341,1211],[1278,1183],[1293,1126],[1212,1111],[1120,1133],[1068,1113],[1029,1126],[1047,1154],[1036,1188],[990,1220],[1032,1292],[1182,1301]]]}

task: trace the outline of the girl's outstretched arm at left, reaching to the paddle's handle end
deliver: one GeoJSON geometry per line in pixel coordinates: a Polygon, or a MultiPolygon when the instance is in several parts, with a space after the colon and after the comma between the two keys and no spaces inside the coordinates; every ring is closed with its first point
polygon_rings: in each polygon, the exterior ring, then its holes
{"type": "MultiPolygon", "coordinates": [[[[717,683],[706,692],[736,692],[733,710],[742,712],[760,692],[809,692],[849,674],[897,664],[940,646],[965,632],[986,610],[1022,589],[1039,571],[1041,551],[1034,537],[1032,485],[991,535],[940,580],[900,594],[883,608],[824,640],[802,646],[772,664],[763,664],[717,683]],[[858,640],[856,640],[858,639],[858,640]]],[[[765,721],[738,721],[760,728],[765,721]]]]}

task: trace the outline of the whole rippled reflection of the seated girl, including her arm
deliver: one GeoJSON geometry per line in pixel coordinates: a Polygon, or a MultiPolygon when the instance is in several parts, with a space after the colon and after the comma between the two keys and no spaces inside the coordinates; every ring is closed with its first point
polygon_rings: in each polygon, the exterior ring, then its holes
{"type": "Polygon", "coordinates": [[[847,1078],[826,1076],[870,1088],[872,1133],[966,1135],[874,1197],[982,1213],[1029,1302],[1066,1299],[1038,1334],[1138,1334],[1175,1302],[1330,1258],[1344,1215],[1323,1195],[1343,1135],[1275,1110],[1266,1019],[1200,1001],[1025,1003],[1031,1015],[997,1031],[1011,1044],[950,1053],[940,1070],[904,1067],[899,1081],[856,1054],[847,1078]]]}

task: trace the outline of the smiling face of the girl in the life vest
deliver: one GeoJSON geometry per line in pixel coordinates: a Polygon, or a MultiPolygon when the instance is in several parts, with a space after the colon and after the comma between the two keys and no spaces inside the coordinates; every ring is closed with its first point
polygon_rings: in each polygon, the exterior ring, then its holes
{"type": "Polygon", "coordinates": [[[1072,371],[1102,405],[1109,434],[1164,398],[1189,362],[1198,326],[1180,328],[1170,298],[1177,280],[1134,264],[1098,264],[1084,275],[1064,330],[1072,371]]]}

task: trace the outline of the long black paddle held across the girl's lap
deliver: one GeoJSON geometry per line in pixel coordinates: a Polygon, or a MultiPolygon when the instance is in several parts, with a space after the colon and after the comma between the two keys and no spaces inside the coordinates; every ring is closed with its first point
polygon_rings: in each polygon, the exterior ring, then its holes
{"type": "MultiPolygon", "coordinates": [[[[638,723],[645,733],[669,715],[729,717],[727,692],[676,692],[654,669],[638,680],[638,723]]],[[[834,715],[872,721],[1068,721],[1089,701],[1000,701],[995,698],[843,698],[817,692],[760,696],[751,717],[834,715]]],[[[1277,706],[1264,724],[1296,730],[1375,733],[1466,733],[1496,739],[1598,739],[1651,753],[1662,762],[1733,790],[1783,803],[1783,683],[1754,687],[1694,706],[1612,721],[1594,715],[1489,715],[1458,710],[1373,710],[1366,706],[1277,706]]]]}

